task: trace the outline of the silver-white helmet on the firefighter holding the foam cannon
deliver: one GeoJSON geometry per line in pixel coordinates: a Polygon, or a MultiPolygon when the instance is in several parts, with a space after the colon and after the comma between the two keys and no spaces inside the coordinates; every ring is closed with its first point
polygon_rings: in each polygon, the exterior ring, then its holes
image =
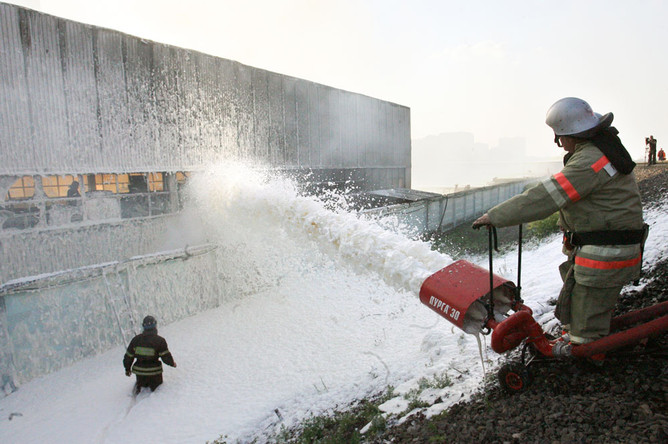
{"type": "Polygon", "coordinates": [[[588,137],[610,126],[612,119],[612,113],[601,116],[584,100],[565,97],[547,110],[545,123],[554,130],[556,136],[588,137]]]}

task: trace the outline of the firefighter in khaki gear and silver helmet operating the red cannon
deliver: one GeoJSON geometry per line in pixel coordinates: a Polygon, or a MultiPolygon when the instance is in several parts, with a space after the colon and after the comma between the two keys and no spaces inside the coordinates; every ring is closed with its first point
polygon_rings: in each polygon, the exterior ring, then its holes
{"type": "Polygon", "coordinates": [[[473,223],[507,227],[559,212],[564,285],[556,317],[573,345],[606,336],[619,293],[639,278],[643,222],[635,163],[611,127],[612,113],[594,113],[587,102],[568,97],[548,111],[546,123],[566,151],[561,172],[490,209],[473,223]]]}

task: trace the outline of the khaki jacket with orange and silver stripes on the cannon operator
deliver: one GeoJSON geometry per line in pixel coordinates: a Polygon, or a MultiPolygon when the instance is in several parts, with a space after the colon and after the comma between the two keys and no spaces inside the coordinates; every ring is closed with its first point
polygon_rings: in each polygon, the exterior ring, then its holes
{"type": "MultiPolygon", "coordinates": [[[[622,174],[591,142],[576,145],[561,172],[488,211],[496,227],[544,219],[559,211],[568,232],[642,230],[643,216],[633,173],[622,174]]],[[[591,287],[614,287],[637,279],[641,245],[576,247],[575,280],[591,287]]]]}

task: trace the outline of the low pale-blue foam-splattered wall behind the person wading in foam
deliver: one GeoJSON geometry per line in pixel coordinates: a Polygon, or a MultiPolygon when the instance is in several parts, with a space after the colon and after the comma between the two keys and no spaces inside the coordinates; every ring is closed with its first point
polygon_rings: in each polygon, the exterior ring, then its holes
{"type": "Polygon", "coordinates": [[[1,285],[0,376],[25,383],[127,345],[146,313],[167,325],[240,297],[216,278],[225,260],[201,246],[1,285]]]}

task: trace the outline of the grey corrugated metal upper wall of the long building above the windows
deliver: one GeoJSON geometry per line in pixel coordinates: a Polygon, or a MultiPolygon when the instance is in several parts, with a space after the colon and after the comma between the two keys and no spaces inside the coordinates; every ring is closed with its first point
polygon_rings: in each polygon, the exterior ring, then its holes
{"type": "Polygon", "coordinates": [[[0,46],[0,175],[243,159],[410,186],[404,106],[3,3],[0,46]]]}

